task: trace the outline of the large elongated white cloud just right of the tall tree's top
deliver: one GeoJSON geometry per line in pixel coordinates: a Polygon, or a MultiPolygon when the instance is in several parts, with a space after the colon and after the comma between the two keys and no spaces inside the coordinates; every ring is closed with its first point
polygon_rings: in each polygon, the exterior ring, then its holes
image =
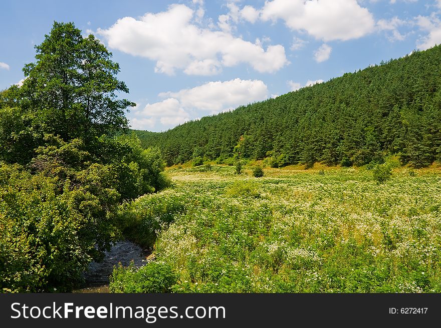
{"type": "MultiPolygon", "coordinates": [[[[234,20],[235,9],[230,13],[234,20]]],[[[283,46],[265,50],[260,44],[234,37],[227,27],[223,31],[200,28],[192,23],[193,16],[194,11],[185,5],[172,5],[166,12],[147,13],[139,20],[124,17],[109,29],[98,29],[97,34],[110,48],[156,61],[155,72],[168,75],[176,69],[193,75],[217,74],[224,66],[241,63],[272,73],[289,64],[283,46]]]]}

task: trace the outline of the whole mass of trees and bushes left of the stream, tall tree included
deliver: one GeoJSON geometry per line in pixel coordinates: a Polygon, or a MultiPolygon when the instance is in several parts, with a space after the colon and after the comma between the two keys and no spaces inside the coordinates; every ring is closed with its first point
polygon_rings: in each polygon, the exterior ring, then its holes
{"type": "Polygon", "coordinates": [[[70,291],[125,228],[119,204],[160,190],[158,149],[127,136],[117,63],[73,23],[54,23],[0,92],[0,292],[70,291]]]}

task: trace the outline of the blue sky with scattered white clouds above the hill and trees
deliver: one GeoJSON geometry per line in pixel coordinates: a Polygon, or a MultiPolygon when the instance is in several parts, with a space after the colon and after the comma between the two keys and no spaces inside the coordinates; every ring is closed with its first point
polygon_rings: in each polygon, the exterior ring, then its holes
{"type": "Polygon", "coordinates": [[[24,78],[54,21],[113,53],[131,126],[150,131],[441,43],[441,0],[4,0],[0,90],[24,78]]]}

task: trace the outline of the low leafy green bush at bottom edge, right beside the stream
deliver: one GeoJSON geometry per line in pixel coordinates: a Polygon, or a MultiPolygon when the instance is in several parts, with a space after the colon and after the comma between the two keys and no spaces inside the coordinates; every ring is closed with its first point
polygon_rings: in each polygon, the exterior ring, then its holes
{"type": "Polygon", "coordinates": [[[113,267],[110,276],[110,292],[119,293],[165,293],[177,282],[170,265],[149,262],[139,268],[133,262],[128,267],[113,267]]]}

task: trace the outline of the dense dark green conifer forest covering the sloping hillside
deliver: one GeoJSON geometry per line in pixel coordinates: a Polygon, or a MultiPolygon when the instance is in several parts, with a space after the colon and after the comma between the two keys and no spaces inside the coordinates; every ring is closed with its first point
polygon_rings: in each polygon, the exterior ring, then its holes
{"type": "Polygon", "coordinates": [[[136,133],[160,147],[167,165],[268,158],[273,167],[361,166],[396,155],[424,167],[441,160],[440,64],[435,46],[163,133],[136,133]]]}

